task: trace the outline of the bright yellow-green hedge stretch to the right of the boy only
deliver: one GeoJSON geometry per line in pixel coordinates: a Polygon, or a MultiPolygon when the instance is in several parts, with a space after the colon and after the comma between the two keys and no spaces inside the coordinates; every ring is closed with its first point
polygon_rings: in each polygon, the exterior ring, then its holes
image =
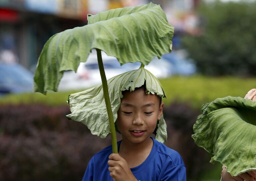
{"type": "Polygon", "coordinates": [[[171,77],[160,80],[165,89],[166,104],[173,101],[189,102],[194,108],[200,108],[218,97],[240,96],[255,88],[256,79],[235,77],[171,77]]]}

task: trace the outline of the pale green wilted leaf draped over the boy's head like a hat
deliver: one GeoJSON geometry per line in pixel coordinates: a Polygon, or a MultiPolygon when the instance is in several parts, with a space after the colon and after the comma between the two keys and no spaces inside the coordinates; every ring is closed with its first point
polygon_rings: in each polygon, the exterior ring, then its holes
{"type": "MultiPolygon", "coordinates": [[[[117,111],[123,97],[122,91],[133,91],[135,88],[143,86],[145,82],[146,93],[165,97],[164,90],[157,78],[144,68],[120,74],[107,81],[114,121],[116,121],[117,111]]],[[[71,114],[67,115],[68,118],[84,123],[92,134],[101,138],[106,137],[110,130],[102,85],[71,94],[68,102],[71,110],[71,114]]],[[[163,116],[159,120],[156,133],[158,141],[166,142],[167,131],[163,116]]]]}

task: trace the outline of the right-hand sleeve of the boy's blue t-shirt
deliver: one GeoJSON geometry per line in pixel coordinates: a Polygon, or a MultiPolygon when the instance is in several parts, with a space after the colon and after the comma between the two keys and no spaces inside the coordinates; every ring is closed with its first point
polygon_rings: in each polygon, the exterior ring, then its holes
{"type": "Polygon", "coordinates": [[[186,168],[183,164],[178,164],[175,166],[167,166],[166,170],[161,177],[161,181],[186,181],[186,168]]]}

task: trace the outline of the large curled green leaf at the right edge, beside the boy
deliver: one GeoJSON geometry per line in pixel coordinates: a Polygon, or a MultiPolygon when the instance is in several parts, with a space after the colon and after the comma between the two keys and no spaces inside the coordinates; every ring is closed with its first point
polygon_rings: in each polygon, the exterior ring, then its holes
{"type": "Polygon", "coordinates": [[[217,98],[202,106],[194,124],[198,146],[214,154],[232,176],[256,170],[256,102],[241,97],[217,98]]]}

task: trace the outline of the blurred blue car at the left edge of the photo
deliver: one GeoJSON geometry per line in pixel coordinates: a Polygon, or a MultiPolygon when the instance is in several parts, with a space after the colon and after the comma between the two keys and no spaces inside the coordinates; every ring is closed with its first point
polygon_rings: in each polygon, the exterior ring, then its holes
{"type": "Polygon", "coordinates": [[[19,64],[0,63],[0,95],[33,91],[33,74],[19,64]]]}

